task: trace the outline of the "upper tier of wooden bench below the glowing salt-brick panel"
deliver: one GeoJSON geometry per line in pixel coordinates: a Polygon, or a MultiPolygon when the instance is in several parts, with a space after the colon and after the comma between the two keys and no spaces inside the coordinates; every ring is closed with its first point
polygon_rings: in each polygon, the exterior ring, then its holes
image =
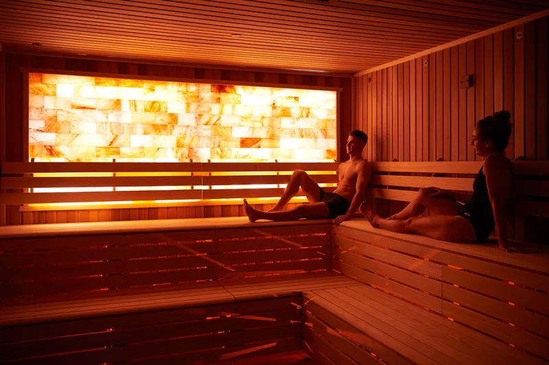
{"type": "Polygon", "coordinates": [[[331,221],[247,217],[7,226],[0,298],[328,270],[331,221]]]}

